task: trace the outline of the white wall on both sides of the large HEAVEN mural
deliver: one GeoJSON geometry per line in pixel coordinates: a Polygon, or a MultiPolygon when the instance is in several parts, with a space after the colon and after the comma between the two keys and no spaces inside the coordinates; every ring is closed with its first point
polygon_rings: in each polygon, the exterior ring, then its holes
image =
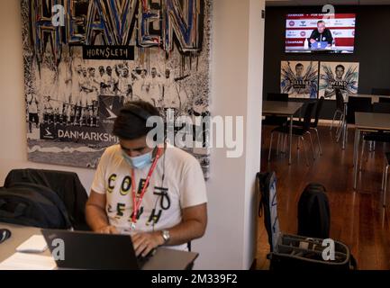
{"type": "MultiPolygon", "coordinates": [[[[213,0],[213,115],[245,116],[244,156],[212,151],[209,225],[194,243],[196,268],[248,269],[255,253],[254,178],[260,163],[264,0],[213,0]]],[[[94,172],[34,164],[26,157],[19,0],[0,0],[0,184],[19,167],[71,170],[89,189],[94,172]]]]}

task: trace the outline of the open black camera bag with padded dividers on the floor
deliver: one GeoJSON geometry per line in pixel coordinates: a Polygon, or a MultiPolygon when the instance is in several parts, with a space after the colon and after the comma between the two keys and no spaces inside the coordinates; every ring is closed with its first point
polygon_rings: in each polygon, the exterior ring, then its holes
{"type": "Polygon", "coordinates": [[[297,235],[281,235],[271,254],[271,270],[357,270],[356,260],[349,247],[331,239],[304,238],[297,235]]]}

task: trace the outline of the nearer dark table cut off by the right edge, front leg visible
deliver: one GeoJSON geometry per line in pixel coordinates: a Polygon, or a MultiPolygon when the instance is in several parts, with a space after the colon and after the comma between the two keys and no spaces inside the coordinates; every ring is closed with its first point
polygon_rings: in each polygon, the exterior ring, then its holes
{"type": "Polygon", "coordinates": [[[355,112],[355,142],[353,147],[353,189],[358,185],[358,149],[363,130],[390,130],[390,114],[355,112]]]}

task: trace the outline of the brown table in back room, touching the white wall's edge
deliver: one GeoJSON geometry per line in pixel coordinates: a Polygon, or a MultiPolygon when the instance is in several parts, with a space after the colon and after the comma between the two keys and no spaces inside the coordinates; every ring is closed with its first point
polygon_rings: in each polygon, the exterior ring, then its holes
{"type": "Polygon", "coordinates": [[[298,110],[302,108],[302,102],[264,101],[263,115],[286,116],[290,118],[290,133],[288,143],[288,165],[291,165],[291,148],[293,147],[293,119],[298,110]]]}

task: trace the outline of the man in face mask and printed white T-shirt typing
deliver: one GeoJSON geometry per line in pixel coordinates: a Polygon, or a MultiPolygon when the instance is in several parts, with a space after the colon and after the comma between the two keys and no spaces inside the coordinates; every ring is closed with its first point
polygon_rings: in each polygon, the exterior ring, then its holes
{"type": "Polygon", "coordinates": [[[151,116],[159,111],[150,103],[124,106],[113,125],[119,145],[101,157],[86,203],[91,229],[132,235],[135,252],[143,257],[162,245],[186,250],[186,243],[203,237],[207,223],[199,162],[164,141],[149,147],[151,116]]]}

